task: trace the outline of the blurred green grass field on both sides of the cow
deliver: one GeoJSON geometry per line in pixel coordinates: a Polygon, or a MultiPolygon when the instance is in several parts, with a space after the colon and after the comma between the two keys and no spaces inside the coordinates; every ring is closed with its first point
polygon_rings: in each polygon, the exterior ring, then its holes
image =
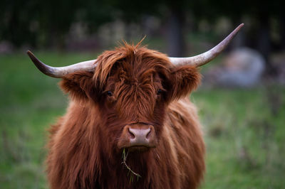
{"type": "MultiPolygon", "coordinates": [[[[93,59],[91,54],[35,53],[50,65],[93,59]]],[[[68,98],[57,79],[39,72],[24,53],[0,56],[0,188],[48,188],[47,129],[68,98]]],[[[199,107],[207,143],[201,188],[285,188],[285,88],[207,90],[199,107]]]]}

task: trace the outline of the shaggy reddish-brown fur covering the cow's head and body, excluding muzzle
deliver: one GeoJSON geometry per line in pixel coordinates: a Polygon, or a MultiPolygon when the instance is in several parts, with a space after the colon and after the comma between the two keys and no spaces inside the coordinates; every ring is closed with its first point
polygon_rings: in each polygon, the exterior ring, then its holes
{"type": "Polygon", "coordinates": [[[128,44],[97,60],[95,72],[61,81],[71,102],[50,130],[51,188],[197,188],[204,142],[187,99],[199,84],[197,68],[175,67],[162,53],[128,44]],[[126,163],[141,175],[130,181],[117,144],[125,125],[140,122],[154,126],[157,146],[128,153],[126,163]]]}

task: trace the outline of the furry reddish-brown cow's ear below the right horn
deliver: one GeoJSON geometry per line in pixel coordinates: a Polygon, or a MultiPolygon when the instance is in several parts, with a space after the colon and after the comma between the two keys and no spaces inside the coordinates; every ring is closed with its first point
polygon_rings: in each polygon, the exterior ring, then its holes
{"type": "Polygon", "coordinates": [[[198,68],[192,65],[180,65],[171,70],[170,100],[180,99],[195,90],[201,80],[198,68]]]}

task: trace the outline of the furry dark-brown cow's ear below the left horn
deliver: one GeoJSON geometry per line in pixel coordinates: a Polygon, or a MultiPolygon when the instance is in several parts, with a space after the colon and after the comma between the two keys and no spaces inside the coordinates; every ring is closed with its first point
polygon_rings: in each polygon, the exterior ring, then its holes
{"type": "Polygon", "coordinates": [[[65,75],[59,85],[72,99],[84,101],[88,98],[94,99],[96,95],[93,72],[74,72],[65,75]]]}

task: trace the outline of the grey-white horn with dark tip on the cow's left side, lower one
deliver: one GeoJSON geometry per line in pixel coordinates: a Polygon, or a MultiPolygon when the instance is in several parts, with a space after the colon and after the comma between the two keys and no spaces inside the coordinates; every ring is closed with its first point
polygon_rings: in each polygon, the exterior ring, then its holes
{"type": "Polygon", "coordinates": [[[62,78],[64,75],[67,75],[69,73],[78,72],[78,71],[94,71],[94,68],[96,67],[96,60],[88,60],[81,63],[76,63],[73,65],[68,65],[65,67],[51,67],[49,65],[46,65],[41,62],[41,60],[38,60],[33,53],[31,53],[30,50],[26,52],[28,56],[31,58],[33,63],[36,65],[36,68],[43,72],[44,74],[56,77],[56,78],[62,78]]]}

